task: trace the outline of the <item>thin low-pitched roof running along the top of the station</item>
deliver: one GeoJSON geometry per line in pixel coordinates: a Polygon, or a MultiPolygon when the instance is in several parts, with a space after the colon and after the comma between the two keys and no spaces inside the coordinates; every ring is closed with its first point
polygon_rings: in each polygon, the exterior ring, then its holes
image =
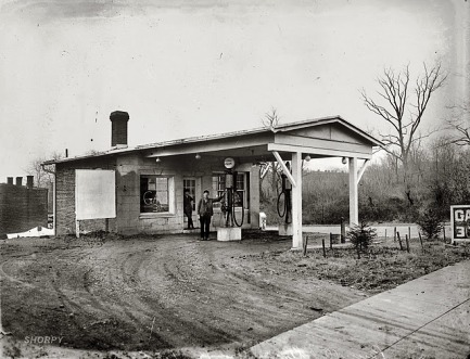
{"type": "Polygon", "coordinates": [[[81,156],[67,157],[67,158],[61,158],[61,159],[51,159],[51,161],[45,162],[43,165],[52,165],[52,164],[73,162],[73,161],[79,161],[79,159],[111,156],[111,155],[118,155],[118,154],[127,154],[127,153],[132,153],[132,152],[142,152],[142,151],[148,151],[148,150],[152,150],[152,149],[169,148],[169,146],[174,146],[174,145],[198,144],[198,143],[203,143],[203,142],[207,142],[207,141],[233,139],[237,137],[246,137],[246,136],[254,136],[254,134],[262,134],[262,133],[287,132],[287,131],[303,129],[303,128],[307,128],[307,127],[317,127],[317,126],[328,125],[328,124],[340,124],[340,125],[348,128],[351,131],[355,132],[358,137],[364,139],[366,142],[370,143],[371,146],[382,146],[383,145],[383,143],[381,141],[377,140],[376,138],[373,138],[372,136],[363,131],[358,127],[346,121],[341,116],[329,116],[329,117],[320,117],[320,118],[315,118],[315,119],[305,119],[305,120],[289,123],[289,124],[280,124],[280,125],[277,125],[275,128],[259,127],[259,128],[249,129],[249,130],[239,130],[239,131],[232,131],[232,132],[190,137],[190,138],[185,138],[185,139],[169,140],[169,141],[163,141],[163,142],[154,142],[154,143],[149,143],[149,144],[140,144],[140,145],[136,145],[134,148],[111,149],[107,151],[98,152],[98,153],[93,153],[93,154],[89,154],[89,155],[81,155],[81,156]]]}

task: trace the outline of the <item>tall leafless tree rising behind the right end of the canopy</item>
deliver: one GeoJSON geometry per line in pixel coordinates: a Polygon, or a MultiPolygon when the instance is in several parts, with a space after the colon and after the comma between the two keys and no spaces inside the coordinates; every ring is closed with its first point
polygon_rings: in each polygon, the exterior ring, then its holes
{"type": "Polygon", "coordinates": [[[383,75],[377,79],[380,90],[377,92],[378,101],[368,97],[361,90],[361,98],[369,111],[391,125],[390,132],[380,132],[383,150],[403,164],[406,195],[412,204],[409,189],[409,165],[414,149],[421,139],[434,131],[420,132],[425,108],[431,95],[444,86],[447,75],[443,72],[441,63],[429,68],[423,64],[422,74],[410,84],[409,65],[396,72],[385,68],[383,75]]]}

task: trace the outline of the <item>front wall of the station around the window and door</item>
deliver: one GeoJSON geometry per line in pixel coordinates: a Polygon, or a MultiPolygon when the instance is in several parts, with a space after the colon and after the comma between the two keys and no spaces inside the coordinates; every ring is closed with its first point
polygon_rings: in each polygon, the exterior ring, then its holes
{"type": "MultiPolygon", "coordinates": [[[[117,232],[131,233],[180,233],[185,227],[183,218],[183,188],[185,177],[200,178],[202,191],[212,190],[212,176],[214,171],[223,171],[224,158],[218,156],[203,156],[194,159],[193,155],[180,155],[162,157],[156,163],[154,158],[147,158],[139,154],[119,156],[116,159],[116,222],[117,232]],[[140,214],[140,176],[158,175],[174,177],[175,181],[175,213],[174,214],[140,214]]],[[[239,170],[250,172],[250,207],[247,210],[244,228],[258,227],[259,216],[259,169],[253,168],[251,164],[240,166],[239,170]]],[[[196,203],[200,198],[195,198],[196,203]]],[[[215,213],[212,229],[224,226],[221,214],[215,213]]],[[[194,223],[198,226],[198,223],[194,223]]]]}

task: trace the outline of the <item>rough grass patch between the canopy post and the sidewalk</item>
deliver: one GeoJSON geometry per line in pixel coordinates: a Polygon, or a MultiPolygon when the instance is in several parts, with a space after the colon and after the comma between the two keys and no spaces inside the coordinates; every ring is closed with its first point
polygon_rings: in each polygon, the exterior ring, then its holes
{"type": "Polygon", "coordinates": [[[449,246],[442,242],[428,242],[423,247],[410,243],[410,253],[401,251],[396,244],[376,244],[361,254],[353,247],[301,252],[266,253],[265,259],[277,261],[284,270],[319,280],[328,280],[371,294],[393,289],[399,284],[437,269],[470,258],[469,246],[449,246]]]}

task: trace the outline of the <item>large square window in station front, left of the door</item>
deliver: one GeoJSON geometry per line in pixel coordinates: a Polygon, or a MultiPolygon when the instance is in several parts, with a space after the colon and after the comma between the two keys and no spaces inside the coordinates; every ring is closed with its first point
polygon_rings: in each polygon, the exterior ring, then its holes
{"type": "Polygon", "coordinates": [[[163,176],[140,176],[140,211],[173,213],[174,211],[174,179],[163,176]]]}

